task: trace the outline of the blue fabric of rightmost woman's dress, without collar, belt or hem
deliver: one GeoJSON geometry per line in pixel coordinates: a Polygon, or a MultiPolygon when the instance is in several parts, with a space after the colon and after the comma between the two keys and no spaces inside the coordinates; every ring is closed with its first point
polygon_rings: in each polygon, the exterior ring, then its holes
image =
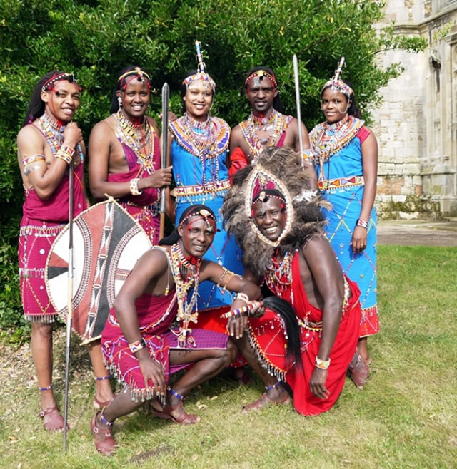
{"type": "MultiPolygon", "coordinates": [[[[316,172],[320,176],[319,165],[316,172]]],[[[331,155],[323,164],[326,180],[339,177],[363,175],[361,142],[356,137],[344,148],[331,155]]],[[[325,183],[324,183],[325,187],[325,183]]],[[[349,244],[356,221],[360,217],[363,185],[322,190],[322,195],[333,206],[323,210],[328,220],[325,230],[335,250],[343,272],[358,284],[361,291],[361,307],[368,309],[376,306],[376,210],[371,210],[368,220],[366,248],[361,254],[353,254],[349,244]]]]}

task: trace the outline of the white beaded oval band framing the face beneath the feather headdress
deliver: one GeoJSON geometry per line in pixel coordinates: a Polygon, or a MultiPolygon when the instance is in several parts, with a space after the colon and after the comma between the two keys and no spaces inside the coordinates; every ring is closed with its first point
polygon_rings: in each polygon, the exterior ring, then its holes
{"type": "MultiPolygon", "coordinates": [[[[244,200],[244,209],[246,212],[246,217],[249,219],[249,224],[251,225],[251,229],[253,230],[254,233],[256,233],[257,237],[261,239],[261,241],[265,242],[266,244],[269,244],[270,246],[273,247],[278,247],[278,245],[281,243],[281,241],[287,236],[288,232],[291,230],[292,224],[293,224],[293,203],[291,199],[291,195],[289,194],[287,187],[283,185],[283,183],[278,180],[278,178],[274,175],[271,174],[271,172],[268,172],[267,170],[263,169],[261,165],[255,165],[253,168],[253,171],[248,177],[248,180],[246,182],[247,190],[246,190],[246,195],[245,195],[245,200],[244,200]],[[271,241],[271,239],[268,239],[261,230],[258,229],[258,226],[256,222],[253,220],[252,216],[252,206],[254,201],[259,200],[256,195],[256,190],[258,190],[258,182],[259,181],[268,181],[268,185],[271,185],[271,183],[274,184],[275,190],[281,193],[282,197],[276,196],[283,204],[285,205],[286,208],[286,226],[284,227],[283,232],[279,235],[278,239],[276,241],[271,241]],[[256,200],[257,198],[257,200],[256,200]]],[[[261,192],[258,194],[258,196],[263,196],[265,199],[266,197],[275,197],[271,195],[267,195],[265,190],[261,190],[261,192]]]]}

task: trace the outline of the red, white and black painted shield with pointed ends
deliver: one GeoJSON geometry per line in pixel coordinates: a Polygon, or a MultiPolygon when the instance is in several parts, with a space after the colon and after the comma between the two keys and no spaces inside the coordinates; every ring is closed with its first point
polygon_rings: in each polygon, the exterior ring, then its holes
{"type": "MultiPolygon", "coordinates": [[[[74,219],[73,323],[86,344],[101,337],[114,298],[136,261],[151,248],[143,228],[111,197],[74,219]]],[[[69,225],[46,262],[49,299],[61,319],[68,313],[69,225]]]]}

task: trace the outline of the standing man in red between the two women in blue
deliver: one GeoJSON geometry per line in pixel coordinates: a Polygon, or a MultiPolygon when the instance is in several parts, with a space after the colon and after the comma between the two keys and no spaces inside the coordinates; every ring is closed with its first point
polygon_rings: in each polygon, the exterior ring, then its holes
{"type": "MultiPolygon", "coordinates": [[[[246,120],[231,131],[231,177],[258,158],[266,148],[280,148],[284,145],[300,150],[298,120],[283,114],[278,81],[271,68],[252,68],[246,75],[244,88],[252,111],[246,120]]],[[[303,123],[300,125],[303,150],[306,150],[309,148],[308,131],[303,123]]]]}

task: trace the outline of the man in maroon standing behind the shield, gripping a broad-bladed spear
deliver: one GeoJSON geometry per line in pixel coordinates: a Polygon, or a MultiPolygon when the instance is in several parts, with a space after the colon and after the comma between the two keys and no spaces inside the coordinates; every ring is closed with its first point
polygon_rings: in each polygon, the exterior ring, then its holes
{"type": "Polygon", "coordinates": [[[95,125],[89,139],[89,184],[92,195],[111,195],[159,242],[160,188],[171,182],[171,167],[160,168],[159,130],[145,115],[151,78],[139,67],[121,71],[111,115],[95,125]]]}

